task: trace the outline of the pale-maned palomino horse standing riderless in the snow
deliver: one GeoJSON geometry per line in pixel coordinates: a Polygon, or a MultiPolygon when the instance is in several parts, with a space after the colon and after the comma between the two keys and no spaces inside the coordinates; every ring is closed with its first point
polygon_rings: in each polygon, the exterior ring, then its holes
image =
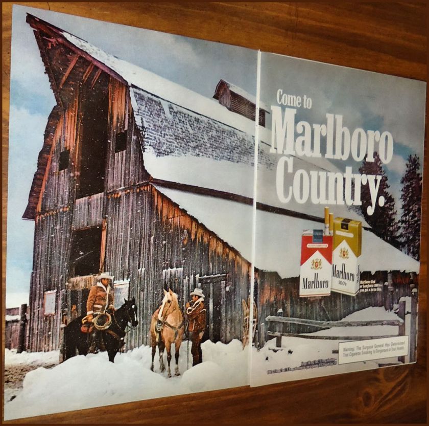
{"type": "Polygon", "coordinates": [[[167,350],[167,361],[169,363],[169,377],[171,377],[171,345],[175,345],[176,371],[175,375],[179,376],[179,349],[182,343],[183,333],[185,331],[185,322],[183,313],[179,307],[176,293],[170,289],[164,290],[164,298],[161,306],[153,313],[151,320],[151,346],[152,346],[152,365],[155,357],[156,345],[158,344],[159,365],[161,373],[165,371],[162,355],[164,348],[167,350]]]}

